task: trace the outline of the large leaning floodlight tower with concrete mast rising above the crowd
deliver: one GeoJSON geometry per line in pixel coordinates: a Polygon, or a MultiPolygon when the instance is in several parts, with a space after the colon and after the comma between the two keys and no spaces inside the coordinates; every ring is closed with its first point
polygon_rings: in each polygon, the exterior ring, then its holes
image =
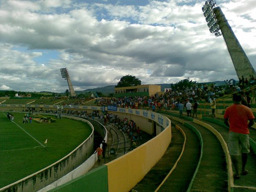
{"type": "Polygon", "coordinates": [[[204,12],[204,17],[206,17],[205,20],[209,27],[209,31],[214,33],[215,37],[223,35],[238,78],[244,76],[244,79],[249,79],[250,75],[255,77],[256,72],[253,69],[252,64],[227,22],[221,8],[216,7],[215,0],[207,0],[202,7],[202,11],[204,12]]]}

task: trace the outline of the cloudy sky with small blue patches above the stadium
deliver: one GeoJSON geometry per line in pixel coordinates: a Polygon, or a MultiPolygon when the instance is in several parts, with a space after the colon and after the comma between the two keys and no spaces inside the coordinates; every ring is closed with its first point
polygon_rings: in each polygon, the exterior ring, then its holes
{"type": "MultiPolygon", "coordinates": [[[[216,0],[256,68],[255,0],[216,0]]],[[[116,85],[238,79],[203,0],[1,0],[0,90],[64,92],[116,85]]]]}

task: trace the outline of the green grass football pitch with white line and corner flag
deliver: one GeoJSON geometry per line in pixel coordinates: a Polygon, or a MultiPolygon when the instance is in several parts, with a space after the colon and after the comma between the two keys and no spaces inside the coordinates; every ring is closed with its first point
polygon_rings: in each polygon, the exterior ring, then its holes
{"type": "Polygon", "coordinates": [[[92,132],[87,123],[73,119],[24,124],[25,113],[12,114],[14,122],[0,112],[0,188],[55,163],[92,132]]]}

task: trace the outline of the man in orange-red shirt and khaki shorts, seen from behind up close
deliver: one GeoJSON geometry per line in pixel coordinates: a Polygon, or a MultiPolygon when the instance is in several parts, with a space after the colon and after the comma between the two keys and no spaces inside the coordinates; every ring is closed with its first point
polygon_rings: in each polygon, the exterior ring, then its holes
{"type": "Polygon", "coordinates": [[[224,113],[224,123],[230,128],[228,149],[235,168],[234,178],[239,179],[239,156],[242,156],[242,175],[247,175],[245,169],[247,153],[250,152],[249,127],[254,124],[253,112],[245,105],[241,105],[240,93],[233,94],[233,105],[227,107],[224,113]],[[249,123],[248,123],[249,120],[249,123]]]}

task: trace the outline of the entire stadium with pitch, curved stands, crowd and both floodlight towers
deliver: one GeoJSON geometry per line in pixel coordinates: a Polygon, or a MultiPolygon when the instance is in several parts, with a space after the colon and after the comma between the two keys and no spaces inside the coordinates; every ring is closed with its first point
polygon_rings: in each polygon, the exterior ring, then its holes
{"type": "Polygon", "coordinates": [[[78,99],[62,67],[69,96],[0,97],[0,192],[256,191],[256,72],[215,1],[202,11],[239,81],[161,87],[128,75],[113,96],[78,99]],[[236,105],[250,130],[239,155],[229,145],[236,105]]]}

